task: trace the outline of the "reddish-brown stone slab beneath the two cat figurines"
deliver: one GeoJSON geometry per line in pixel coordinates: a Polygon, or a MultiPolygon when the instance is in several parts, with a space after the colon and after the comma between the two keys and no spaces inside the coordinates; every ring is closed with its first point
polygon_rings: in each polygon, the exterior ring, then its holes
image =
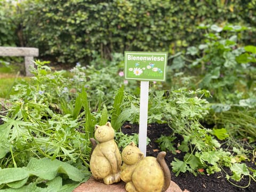
{"type": "MultiPolygon", "coordinates": [[[[114,183],[112,185],[106,185],[103,182],[99,182],[95,180],[93,177],[91,177],[88,181],[85,183],[82,183],[79,187],[77,187],[73,192],[126,192],[125,191],[125,183],[119,182],[114,183]]],[[[182,192],[180,187],[171,181],[170,187],[166,190],[166,192],[182,192]]]]}

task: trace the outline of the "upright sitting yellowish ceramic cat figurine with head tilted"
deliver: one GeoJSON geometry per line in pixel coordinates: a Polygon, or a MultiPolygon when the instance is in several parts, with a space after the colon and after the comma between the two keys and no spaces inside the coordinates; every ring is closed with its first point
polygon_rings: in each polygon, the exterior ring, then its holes
{"type": "Polygon", "coordinates": [[[110,122],[106,125],[95,125],[94,137],[91,138],[92,151],[90,169],[95,179],[101,180],[107,185],[119,182],[122,158],[114,140],[115,131],[110,122]]]}

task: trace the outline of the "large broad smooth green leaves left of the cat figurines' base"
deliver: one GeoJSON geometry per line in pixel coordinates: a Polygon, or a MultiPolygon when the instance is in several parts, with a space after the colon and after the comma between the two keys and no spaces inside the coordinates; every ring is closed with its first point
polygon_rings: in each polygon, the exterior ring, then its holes
{"type": "Polygon", "coordinates": [[[73,190],[90,177],[86,167],[78,170],[68,163],[49,158],[32,158],[26,167],[0,169],[0,191],[7,189],[19,191],[73,190]],[[58,176],[67,175],[67,179],[58,176]],[[29,185],[26,183],[29,182],[29,185]],[[44,187],[38,187],[42,185],[44,187]]]}

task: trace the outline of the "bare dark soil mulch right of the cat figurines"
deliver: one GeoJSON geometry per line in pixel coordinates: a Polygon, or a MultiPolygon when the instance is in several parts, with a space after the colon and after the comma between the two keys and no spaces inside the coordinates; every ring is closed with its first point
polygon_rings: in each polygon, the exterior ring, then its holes
{"type": "MultiPolygon", "coordinates": [[[[126,123],[122,127],[122,132],[125,134],[132,134],[132,133],[138,133],[139,132],[139,126],[134,124],[126,123]],[[125,125],[130,125],[128,127],[131,128],[124,128],[127,127],[125,125]]],[[[158,143],[155,142],[156,139],[161,137],[161,134],[169,136],[172,134],[172,130],[170,127],[168,127],[165,124],[149,124],[148,125],[148,132],[147,137],[151,140],[149,145],[147,146],[147,156],[154,156],[156,157],[157,154],[160,151],[160,148],[158,146],[158,143]],[[156,151],[155,149],[158,149],[159,151],[156,151]]],[[[182,138],[180,138],[182,139],[182,138]]],[[[179,139],[176,140],[177,143],[181,142],[179,139]]],[[[172,154],[170,152],[167,152],[165,161],[167,165],[170,167],[170,163],[174,160],[174,157],[182,160],[183,154],[172,154]]],[[[255,163],[252,162],[245,162],[247,166],[252,167],[253,169],[256,169],[255,163]]],[[[230,173],[229,169],[225,169],[227,173],[230,173]]],[[[231,174],[230,174],[231,175],[231,174]]],[[[214,173],[211,175],[207,174],[199,174],[196,177],[191,173],[180,173],[178,177],[175,177],[174,173],[171,171],[171,177],[172,181],[177,183],[179,187],[182,190],[189,190],[190,192],[200,192],[200,191],[207,191],[207,192],[219,192],[219,191],[226,191],[226,192],[236,192],[236,191],[255,191],[256,190],[256,182],[251,181],[251,185],[247,188],[240,188],[232,185],[227,179],[226,179],[226,173],[224,171],[214,173]]],[[[234,180],[232,180],[234,181],[234,180]]],[[[234,183],[238,186],[247,186],[249,183],[249,177],[244,177],[239,183],[234,183]]]]}

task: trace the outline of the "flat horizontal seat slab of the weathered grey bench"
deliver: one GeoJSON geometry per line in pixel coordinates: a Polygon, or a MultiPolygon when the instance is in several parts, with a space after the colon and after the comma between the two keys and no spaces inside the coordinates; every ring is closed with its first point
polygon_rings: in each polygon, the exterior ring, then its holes
{"type": "Polygon", "coordinates": [[[16,56],[16,57],[25,57],[33,56],[37,57],[39,50],[34,47],[5,47],[0,46],[0,56],[16,56]]]}

